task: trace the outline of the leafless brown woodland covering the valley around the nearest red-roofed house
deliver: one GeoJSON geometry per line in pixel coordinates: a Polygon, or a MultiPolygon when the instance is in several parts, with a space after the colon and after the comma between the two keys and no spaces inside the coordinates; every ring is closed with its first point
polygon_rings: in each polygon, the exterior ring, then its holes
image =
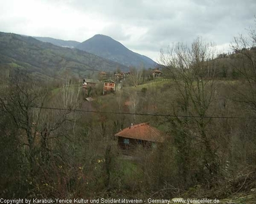
{"type": "Polygon", "coordinates": [[[133,69],[120,91],[94,91],[91,102],[76,76],[34,80],[13,68],[0,86],[1,197],[253,194],[255,43],[253,30],[234,38],[229,55],[201,38],[177,43],[161,52],[163,77],[148,80],[133,69]],[[138,145],[125,157],[114,135],[141,122],[159,129],[164,142],[138,145]]]}

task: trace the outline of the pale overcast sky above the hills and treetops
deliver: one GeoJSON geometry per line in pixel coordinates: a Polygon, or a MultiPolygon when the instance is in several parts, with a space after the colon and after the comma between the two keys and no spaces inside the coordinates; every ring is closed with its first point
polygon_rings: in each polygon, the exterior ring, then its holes
{"type": "Polygon", "coordinates": [[[197,36],[227,50],[255,26],[255,0],[0,0],[0,31],[84,41],[106,34],[157,61],[197,36]]]}

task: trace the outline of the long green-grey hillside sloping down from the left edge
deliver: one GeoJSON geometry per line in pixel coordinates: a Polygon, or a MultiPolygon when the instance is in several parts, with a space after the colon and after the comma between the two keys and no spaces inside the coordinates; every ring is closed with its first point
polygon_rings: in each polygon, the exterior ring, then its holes
{"type": "MultiPolygon", "coordinates": [[[[0,32],[0,68],[28,69],[38,77],[56,77],[70,70],[76,76],[97,71],[123,71],[129,68],[99,56],[70,48],[44,43],[35,38],[0,32]]],[[[3,69],[2,69],[3,70],[3,69]]]]}

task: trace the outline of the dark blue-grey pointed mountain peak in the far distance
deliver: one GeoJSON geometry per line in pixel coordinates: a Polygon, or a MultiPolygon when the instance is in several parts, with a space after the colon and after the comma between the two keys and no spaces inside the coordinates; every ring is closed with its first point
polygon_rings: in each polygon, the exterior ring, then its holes
{"type": "Polygon", "coordinates": [[[157,65],[152,59],[132,52],[118,41],[102,34],[97,34],[89,40],[78,44],[76,48],[124,64],[125,66],[140,67],[143,64],[145,68],[154,68],[157,65]]]}

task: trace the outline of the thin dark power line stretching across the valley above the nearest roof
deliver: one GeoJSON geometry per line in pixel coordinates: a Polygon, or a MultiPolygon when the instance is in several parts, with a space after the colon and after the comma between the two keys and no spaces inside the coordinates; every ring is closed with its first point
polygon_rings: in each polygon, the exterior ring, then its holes
{"type": "Polygon", "coordinates": [[[144,116],[153,116],[153,117],[184,117],[184,118],[202,118],[202,119],[256,119],[256,117],[232,117],[232,116],[195,116],[195,115],[173,115],[173,114],[152,114],[152,113],[126,113],[126,112],[104,112],[96,110],[79,110],[79,109],[67,109],[67,108],[53,108],[53,107],[39,107],[31,106],[31,108],[41,108],[46,110],[61,110],[61,111],[71,111],[71,112],[86,112],[86,113],[106,113],[113,115],[144,115],[144,116]]]}

